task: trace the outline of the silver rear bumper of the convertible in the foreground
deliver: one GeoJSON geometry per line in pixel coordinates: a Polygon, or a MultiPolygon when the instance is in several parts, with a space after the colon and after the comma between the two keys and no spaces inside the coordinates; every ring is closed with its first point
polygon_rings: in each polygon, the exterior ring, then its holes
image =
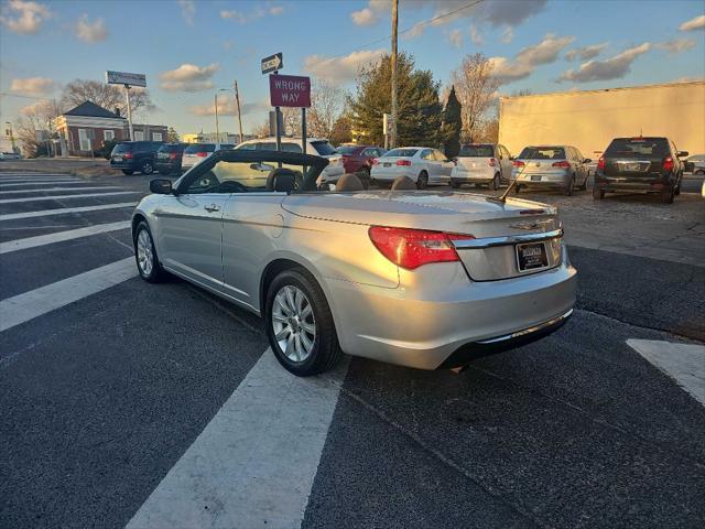
{"type": "Polygon", "coordinates": [[[423,268],[431,288],[328,281],[343,350],[421,369],[447,367],[459,349],[487,354],[539,338],[575,304],[576,270],[566,256],[552,270],[488,282],[469,281],[459,263],[423,268]]]}

